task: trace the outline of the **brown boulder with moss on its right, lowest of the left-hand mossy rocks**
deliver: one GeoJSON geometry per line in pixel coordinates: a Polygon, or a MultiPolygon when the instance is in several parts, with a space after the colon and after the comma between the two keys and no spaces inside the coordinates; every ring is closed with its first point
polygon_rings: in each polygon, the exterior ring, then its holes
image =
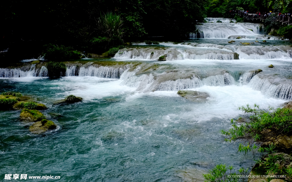
{"type": "Polygon", "coordinates": [[[29,127],[29,131],[33,134],[40,134],[48,130],[54,130],[56,128],[57,125],[53,121],[43,119],[33,123],[32,126],[29,127]]]}

